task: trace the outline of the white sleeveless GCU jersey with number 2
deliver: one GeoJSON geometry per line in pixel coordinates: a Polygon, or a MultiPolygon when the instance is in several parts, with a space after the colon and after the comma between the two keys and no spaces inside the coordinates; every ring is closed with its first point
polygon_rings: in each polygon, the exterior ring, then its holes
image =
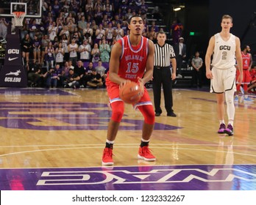
{"type": "Polygon", "coordinates": [[[214,37],[213,67],[225,70],[235,66],[235,36],[230,34],[230,39],[227,41],[222,40],[219,33],[214,37]]]}

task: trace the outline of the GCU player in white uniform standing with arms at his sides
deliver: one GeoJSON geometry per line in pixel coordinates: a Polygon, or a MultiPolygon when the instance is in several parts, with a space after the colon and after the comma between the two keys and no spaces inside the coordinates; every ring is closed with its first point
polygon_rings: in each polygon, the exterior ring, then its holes
{"type": "Polygon", "coordinates": [[[205,55],[206,77],[210,79],[210,92],[216,93],[217,113],[220,123],[218,133],[233,135],[233,122],[235,117],[234,92],[235,88],[235,59],[240,76],[243,79],[243,66],[240,40],[230,33],[232,17],[224,15],[221,19],[221,32],[210,38],[205,55]],[[210,58],[213,55],[212,64],[210,58]],[[210,68],[212,67],[212,70],[210,68]],[[224,122],[224,100],[227,103],[228,124],[224,122]]]}

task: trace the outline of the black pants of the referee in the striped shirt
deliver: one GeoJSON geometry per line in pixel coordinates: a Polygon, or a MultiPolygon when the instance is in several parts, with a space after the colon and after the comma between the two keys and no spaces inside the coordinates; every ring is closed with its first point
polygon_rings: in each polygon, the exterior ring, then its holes
{"type": "Polygon", "coordinates": [[[161,86],[163,85],[163,96],[167,113],[173,113],[172,109],[172,80],[170,67],[154,67],[153,72],[153,93],[154,93],[154,111],[162,113],[161,104],[161,86]]]}

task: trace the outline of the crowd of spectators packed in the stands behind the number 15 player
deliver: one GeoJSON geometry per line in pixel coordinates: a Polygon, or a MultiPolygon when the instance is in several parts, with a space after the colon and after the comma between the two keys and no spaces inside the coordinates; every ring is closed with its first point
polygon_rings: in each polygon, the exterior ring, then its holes
{"type": "Polygon", "coordinates": [[[24,18],[21,50],[30,86],[104,86],[111,49],[141,15],[143,36],[155,41],[144,0],[43,0],[40,19],[24,18]]]}

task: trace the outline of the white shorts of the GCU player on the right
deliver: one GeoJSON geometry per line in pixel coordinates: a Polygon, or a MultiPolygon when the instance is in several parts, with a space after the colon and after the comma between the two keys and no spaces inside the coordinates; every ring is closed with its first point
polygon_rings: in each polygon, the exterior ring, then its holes
{"type": "Polygon", "coordinates": [[[235,92],[235,72],[235,66],[225,70],[213,67],[213,79],[210,80],[210,92],[223,93],[229,90],[235,92]]]}

